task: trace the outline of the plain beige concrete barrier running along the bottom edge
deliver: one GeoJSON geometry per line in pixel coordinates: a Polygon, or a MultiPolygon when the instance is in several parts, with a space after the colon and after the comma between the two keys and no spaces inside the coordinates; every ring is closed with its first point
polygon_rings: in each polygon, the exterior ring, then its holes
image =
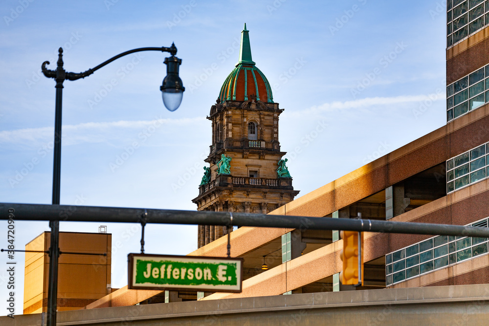
{"type": "MultiPolygon", "coordinates": [[[[41,325],[41,315],[0,317],[41,325]]],[[[68,325],[487,325],[489,284],[321,292],[58,312],[68,325]]]]}

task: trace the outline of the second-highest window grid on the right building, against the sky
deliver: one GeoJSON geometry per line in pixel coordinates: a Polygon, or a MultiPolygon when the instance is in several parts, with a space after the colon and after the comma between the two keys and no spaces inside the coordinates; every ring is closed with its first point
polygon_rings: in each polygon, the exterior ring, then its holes
{"type": "Polygon", "coordinates": [[[446,87],[446,122],[488,102],[489,65],[486,65],[446,87]]]}

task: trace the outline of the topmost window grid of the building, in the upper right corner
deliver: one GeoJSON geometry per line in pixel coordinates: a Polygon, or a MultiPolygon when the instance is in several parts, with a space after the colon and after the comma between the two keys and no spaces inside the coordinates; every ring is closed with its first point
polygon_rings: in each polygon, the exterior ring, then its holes
{"type": "Polygon", "coordinates": [[[489,25],[489,0],[447,0],[446,6],[447,47],[489,25]]]}

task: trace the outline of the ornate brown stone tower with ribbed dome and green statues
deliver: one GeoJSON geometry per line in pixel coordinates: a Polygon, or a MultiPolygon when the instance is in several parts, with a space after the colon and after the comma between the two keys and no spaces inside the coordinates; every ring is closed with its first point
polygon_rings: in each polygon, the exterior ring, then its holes
{"type": "MultiPolygon", "coordinates": [[[[251,59],[246,24],[241,32],[239,61],[221,87],[207,117],[212,145],[205,162],[199,211],[266,214],[293,200],[286,152],[280,151],[278,121],[283,109],[273,102],[267,77],[251,59]]],[[[226,227],[199,225],[198,247],[227,234],[226,227]]]]}

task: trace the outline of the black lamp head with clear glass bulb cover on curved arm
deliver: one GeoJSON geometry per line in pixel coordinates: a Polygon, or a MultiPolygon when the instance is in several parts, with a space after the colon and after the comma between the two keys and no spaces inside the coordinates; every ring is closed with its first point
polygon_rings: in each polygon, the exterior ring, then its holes
{"type": "Polygon", "coordinates": [[[170,111],[175,111],[180,106],[183,97],[182,80],[178,76],[178,68],[181,64],[181,59],[172,55],[170,58],[165,58],[166,77],[163,79],[163,84],[159,89],[163,98],[163,104],[170,111]]]}

